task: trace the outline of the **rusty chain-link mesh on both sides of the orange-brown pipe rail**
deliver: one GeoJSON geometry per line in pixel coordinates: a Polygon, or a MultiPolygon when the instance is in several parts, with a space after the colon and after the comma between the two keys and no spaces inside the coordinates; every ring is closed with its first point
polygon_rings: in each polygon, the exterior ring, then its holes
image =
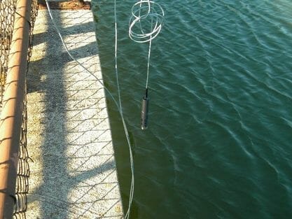
{"type": "MultiPolygon", "coordinates": [[[[6,76],[8,72],[9,53],[11,51],[11,41],[13,38],[13,24],[15,14],[18,13],[16,5],[19,0],[0,0],[0,115],[3,105],[3,97],[6,88],[6,76]]],[[[27,62],[32,53],[32,38],[34,20],[36,19],[38,10],[38,1],[32,0],[31,17],[27,19],[29,22],[29,49],[27,62]]],[[[26,83],[25,83],[26,84],[26,83]]],[[[22,111],[22,127],[20,134],[20,150],[18,153],[18,177],[16,179],[15,188],[15,211],[13,218],[25,218],[27,210],[27,193],[29,190],[29,154],[27,151],[27,98],[26,87],[25,97],[23,101],[22,111]]]]}

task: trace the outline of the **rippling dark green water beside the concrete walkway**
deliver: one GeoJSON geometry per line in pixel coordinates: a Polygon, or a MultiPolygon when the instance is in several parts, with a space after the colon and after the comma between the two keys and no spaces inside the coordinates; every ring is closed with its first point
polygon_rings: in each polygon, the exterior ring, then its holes
{"type": "MultiPolygon", "coordinates": [[[[292,1],[158,1],[150,125],[139,128],[147,45],[127,36],[118,1],[118,66],[134,150],[131,218],[292,218],[292,1]]],[[[104,80],[116,94],[113,1],[92,7],[104,80]]],[[[108,99],[125,208],[130,166],[108,99]]]]}

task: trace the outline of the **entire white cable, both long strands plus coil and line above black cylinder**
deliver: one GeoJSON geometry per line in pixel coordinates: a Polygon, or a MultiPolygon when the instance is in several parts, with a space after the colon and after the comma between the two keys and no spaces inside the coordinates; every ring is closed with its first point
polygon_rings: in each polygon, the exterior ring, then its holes
{"type": "MultiPolygon", "coordinates": [[[[127,125],[125,123],[125,118],[123,116],[123,108],[121,104],[120,99],[120,85],[118,80],[118,27],[117,27],[117,15],[116,15],[116,0],[114,0],[114,16],[115,16],[115,69],[116,69],[116,80],[117,80],[117,86],[118,86],[118,101],[113,97],[113,94],[107,89],[107,87],[104,86],[104,83],[102,80],[99,80],[95,76],[94,73],[89,71],[83,64],[78,62],[78,60],[71,55],[71,52],[69,52],[69,49],[67,48],[66,43],[64,42],[64,39],[62,37],[62,34],[60,33],[59,28],[57,27],[57,24],[55,23],[55,20],[53,18],[53,15],[50,11],[50,6],[48,3],[48,0],[46,0],[46,5],[48,7],[48,13],[50,15],[51,20],[53,21],[53,25],[55,26],[55,29],[57,30],[57,34],[60,36],[60,39],[64,45],[65,50],[67,51],[68,55],[73,59],[75,62],[78,63],[85,71],[90,73],[90,75],[94,76],[97,81],[104,87],[104,90],[108,92],[111,99],[113,99],[113,102],[116,104],[118,108],[118,112],[120,113],[120,117],[123,122],[123,127],[125,131],[125,136],[127,139],[127,144],[129,147],[130,152],[130,167],[131,167],[131,185],[130,185],[130,197],[129,197],[129,204],[127,208],[127,212],[125,213],[125,219],[130,218],[130,209],[132,206],[132,200],[134,196],[134,158],[132,155],[132,145],[130,143],[130,136],[127,131],[127,125]]],[[[148,65],[147,65],[147,80],[146,80],[146,89],[148,87],[148,76],[149,76],[149,61],[150,61],[150,54],[151,54],[151,42],[153,38],[158,36],[158,34],[161,31],[162,28],[162,21],[165,13],[160,6],[160,4],[155,3],[154,1],[138,1],[137,3],[132,6],[132,15],[130,18],[130,24],[129,24],[129,36],[130,38],[137,42],[137,43],[146,43],[149,42],[149,50],[148,50],[148,65]]]]}

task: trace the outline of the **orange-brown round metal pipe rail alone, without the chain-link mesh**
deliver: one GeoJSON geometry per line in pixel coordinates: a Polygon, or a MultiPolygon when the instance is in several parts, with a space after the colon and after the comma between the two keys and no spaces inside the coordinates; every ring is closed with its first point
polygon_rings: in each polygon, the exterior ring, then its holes
{"type": "Polygon", "coordinates": [[[13,217],[25,95],[31,0],[18,0],[0,118],[0,219],[13,217]]]}

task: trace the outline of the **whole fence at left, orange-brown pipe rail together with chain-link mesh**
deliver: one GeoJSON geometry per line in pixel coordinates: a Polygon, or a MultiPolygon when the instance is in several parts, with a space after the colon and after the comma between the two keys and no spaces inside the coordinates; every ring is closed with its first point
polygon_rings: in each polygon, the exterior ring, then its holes
{"type": "Polygon", "coordinates": [[[29,189],[26,73],[37,0],[0,0],[0,219],[25,218],[29,189]]]}

